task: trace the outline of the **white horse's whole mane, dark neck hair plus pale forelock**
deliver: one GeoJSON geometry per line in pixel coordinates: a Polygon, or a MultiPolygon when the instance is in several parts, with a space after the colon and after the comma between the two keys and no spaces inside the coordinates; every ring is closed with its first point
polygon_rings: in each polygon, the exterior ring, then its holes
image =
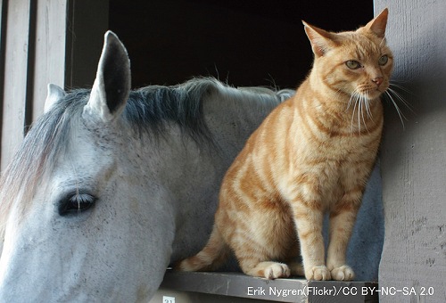
{"type": "MultiPolygon", "coordinates": [[[[89,89],[70,91],[37,119],[0,177],[0,244],[12,202],[18,197],[29,201],[45,172],[53,170],[55,160],[69,145],[70,130],[81,123],[90,92],[89,89]]],[[[227,99],[225,101],[239,101],[249,96],[252,102],[248,106],[254,106],[254,101],[257,102],[259,98],[277,104],[290,93],[276,93],[266,88],[246,88],[242,91],[224,85],[215,78],[194,78],[177,86],[146,86],[131,91],[122,117],[140,136],[143,133],[160,135],[170,121],[177,123],[196,143],[212,144],[212,135],[202,111],[203,100],[208,94],[220,94],[221,98],[227,99]]],[[[21,214],[25,213],[25,204],[19,206],[21,214]]]]}

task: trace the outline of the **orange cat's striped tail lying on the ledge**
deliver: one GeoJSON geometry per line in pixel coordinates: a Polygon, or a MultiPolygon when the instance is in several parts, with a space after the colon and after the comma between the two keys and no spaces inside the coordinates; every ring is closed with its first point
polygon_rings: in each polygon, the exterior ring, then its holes
{"type": "Polygon", "coordinates": [[[207,272],[219,269],[229,257],[229,246],[214,225],[206,246],[195,256],[179,261],[174,268],[186,272],[207,272]]]}

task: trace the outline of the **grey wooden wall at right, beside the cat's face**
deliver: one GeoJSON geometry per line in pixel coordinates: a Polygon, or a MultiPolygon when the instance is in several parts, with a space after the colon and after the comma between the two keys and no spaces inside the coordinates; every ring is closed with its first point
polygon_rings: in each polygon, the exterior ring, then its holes
{"type": "Polygon", "coordinates": [[[398,292],[380,300],[446,302],[446,2],[375,0],[376,13],[384,7],[394,78],[412,92],[415,113],[400,105],[403,128],[392,106],[385,112],[379,284],[398,292]],[[405,295],[404,287],[416,292],[405,295]]]}

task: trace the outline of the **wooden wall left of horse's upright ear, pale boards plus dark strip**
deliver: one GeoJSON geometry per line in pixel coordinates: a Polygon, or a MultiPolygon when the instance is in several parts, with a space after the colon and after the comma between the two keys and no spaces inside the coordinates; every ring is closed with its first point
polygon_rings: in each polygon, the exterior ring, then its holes
{"type": "Polygon", "coordinates": [[[0,0],[1,170],[43,112],[46,86],[93,84],[108,0],[0,0]]]}

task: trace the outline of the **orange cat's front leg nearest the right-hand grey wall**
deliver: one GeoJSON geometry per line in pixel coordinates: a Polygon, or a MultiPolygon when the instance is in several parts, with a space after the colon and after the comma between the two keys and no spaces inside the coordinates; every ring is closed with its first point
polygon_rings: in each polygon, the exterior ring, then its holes
{"type": "Polygon", "coordinates": [[[354,279],[354,272],[345,259],[361,197],[362,188],[359,187],[345,192],[343,198],[337,201],[330,211],[330,242],[326,265],[334,280],[354,279]]]}

